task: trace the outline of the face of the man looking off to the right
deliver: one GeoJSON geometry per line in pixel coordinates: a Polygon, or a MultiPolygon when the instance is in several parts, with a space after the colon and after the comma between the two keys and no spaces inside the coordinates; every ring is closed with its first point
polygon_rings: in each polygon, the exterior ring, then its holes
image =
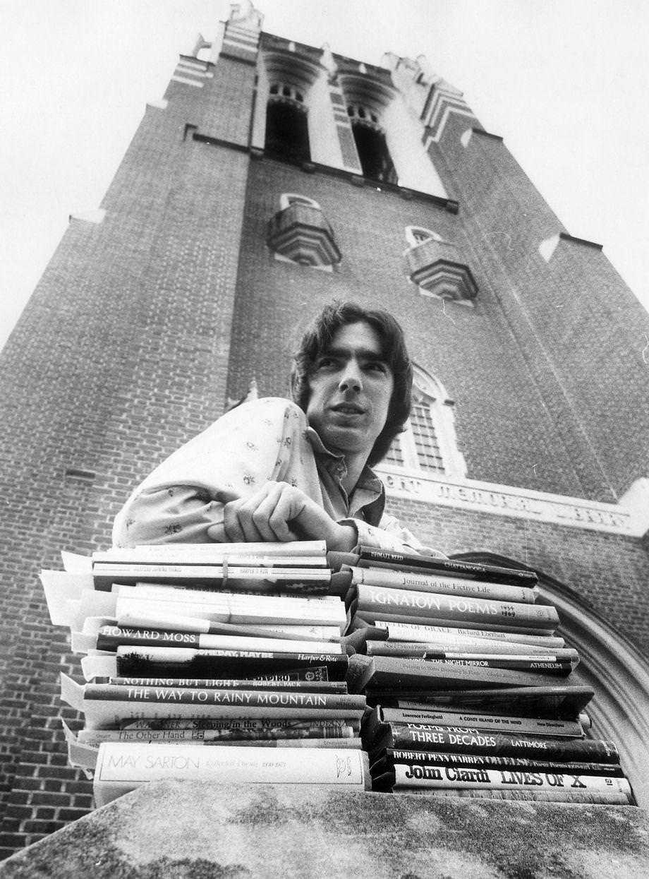
{"type": "Polygon", "coordinates": [[[394,388],[379,336],[369,323],[347,323],[315,361],[306,418],[328,449],[370,454],[386,425],[394,388]]]}

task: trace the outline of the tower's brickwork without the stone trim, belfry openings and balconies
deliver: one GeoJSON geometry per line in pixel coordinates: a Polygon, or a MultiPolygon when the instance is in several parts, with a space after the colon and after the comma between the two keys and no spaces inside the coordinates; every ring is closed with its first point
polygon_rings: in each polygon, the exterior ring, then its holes
{"type": "MultiPolygon", "coordinates": [[[[456,401],[468,477],[612,501],[646,476],[647,316],[602,253],[563,230],[497,139],[451,115],[430,156],[458,214],[349,174],[249,156],[255,67],[223,57],[201,88],[148,107],[100,224],[74,220],[2,352],[4,516],[0,851],[90,809],[67,766],[57,675],[79,677],[47,621],[38,572],[61,548],[110,542],[133,485],[209,425],[255,376],[285,396],[304,324],[333,298],[393,311],[415,361],[456,401]],[[200,134],[209,141],[195,139],[200,134]],[[280,262],[266,226],[281,193],[317,200],[342,263],[280,262]],[[408,225],[467,255],[474,308],[407,280],[408,225]]],[[[579,528],[393,501],[447,553],[487,549],[543,570],[649,648],[647,543],[579,528]]]]}

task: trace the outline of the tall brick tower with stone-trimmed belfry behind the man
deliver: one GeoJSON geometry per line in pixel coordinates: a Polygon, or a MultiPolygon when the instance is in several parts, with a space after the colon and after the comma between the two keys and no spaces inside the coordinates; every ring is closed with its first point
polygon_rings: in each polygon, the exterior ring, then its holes
{"type": "Polygon", "coordinates": [[[422,58],[262,24],[237,4],[180,57],[2,354],[4,854],[90,809],[40,568],[108,546],[133,485],[251,381],[285,396],[334,298],[393,311],[416,363],[391,509],[446,553],[538,571],[646,805],[645,309],[422,58]]]}

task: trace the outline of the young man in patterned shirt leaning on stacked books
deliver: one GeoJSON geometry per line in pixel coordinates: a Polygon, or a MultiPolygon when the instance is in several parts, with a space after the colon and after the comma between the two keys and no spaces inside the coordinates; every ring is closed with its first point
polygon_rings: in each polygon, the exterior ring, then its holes
{"type": "Polygon", "coordinates": [[[170,455],[119,512],[113,542],[300,539],[431,552],[384,515],[370,469],[403,429],[411,388],[391,315],[328,306],[295,356],[295,402],[243,403],[170,455]]]}

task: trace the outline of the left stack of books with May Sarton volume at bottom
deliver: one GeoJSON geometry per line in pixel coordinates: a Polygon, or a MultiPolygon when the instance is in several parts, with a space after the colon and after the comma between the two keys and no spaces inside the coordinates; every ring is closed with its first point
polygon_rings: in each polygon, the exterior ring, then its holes
{"type": "Polygon", "coordinates": [[[346,613],[324,541],[64,553],[43,571],[85,683],[69,759],[97,805],[160,778],[370,785],[349,694],[346,613]],[[280,750],[270,752],[274,747],[280,750]]]}

